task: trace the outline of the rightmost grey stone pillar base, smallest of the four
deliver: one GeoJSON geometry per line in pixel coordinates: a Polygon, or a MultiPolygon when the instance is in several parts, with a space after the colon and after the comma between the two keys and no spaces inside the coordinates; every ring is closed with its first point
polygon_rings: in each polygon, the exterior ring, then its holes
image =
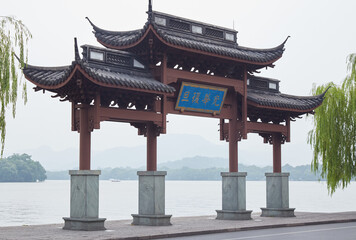
{"type": "Polygon", "coordinates": [[[262,217],[295,217],[289,208],[289,173],[266,173],[267,207],[262,217]]]}

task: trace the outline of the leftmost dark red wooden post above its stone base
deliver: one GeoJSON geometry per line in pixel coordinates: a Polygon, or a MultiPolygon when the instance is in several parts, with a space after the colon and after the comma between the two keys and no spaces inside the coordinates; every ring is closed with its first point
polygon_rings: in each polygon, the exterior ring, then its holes
{"type": "Polygon", "coordinates": [[[83,104],[80,108],[80,148],[79,170],[90,170],[90,134],[88,105],[83,104]]]}

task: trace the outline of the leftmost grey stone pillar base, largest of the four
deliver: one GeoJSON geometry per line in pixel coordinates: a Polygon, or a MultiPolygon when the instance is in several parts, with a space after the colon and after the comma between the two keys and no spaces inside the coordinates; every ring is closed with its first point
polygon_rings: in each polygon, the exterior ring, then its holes
{"type": "Polygon", "coordinates": [[[64,217],[67,230],[105,230],[105,218],[99,218],[100,170],[71,170],[70,217],[64,217]]]}

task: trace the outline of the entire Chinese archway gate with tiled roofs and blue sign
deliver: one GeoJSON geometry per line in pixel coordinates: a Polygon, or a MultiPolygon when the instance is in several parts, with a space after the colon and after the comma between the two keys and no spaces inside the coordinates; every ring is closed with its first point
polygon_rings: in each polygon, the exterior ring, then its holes
{"type": "Polygon", "coordinates": [[[289,173],[282,173],[281,144],[290,141],[290,122],[312,113],[324,95],[282,94],[279,81],[256,76],[282,57],[284,41],[271,49],[237,44],[237,32],[152,11],[139,30],[114,32],[94,25],[105,48],[81,46],[66,67],[25,66],[35,90],[72,104],[72,131],[80,135],[79,170],[70,171],[70,217],[65,229],[100,230],[100,171],[90,169],[90,135],[102,121],[126,122],[147,138],[147,171],[139,175],[136,225],[170,225],[165,214],[165,175],[157,171],[157,137],[167,114],[220,119],[220,139],[229,144],[229,172],[222,175],[222,210],[217,219],[251,219],[246,210],[246,175],[238,172],[238,142],[248,133],[273,145],[273,173],[266,173],[262,216],[294,216],[289,208],[289,173]]]}

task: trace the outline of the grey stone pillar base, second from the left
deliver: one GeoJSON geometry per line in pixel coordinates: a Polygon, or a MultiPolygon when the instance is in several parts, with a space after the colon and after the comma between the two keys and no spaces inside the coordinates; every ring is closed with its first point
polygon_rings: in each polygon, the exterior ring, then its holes
{"type": "Polygon", "coordinates": [[[165,171],[138,171],[138,214],[133,225],[171,225],[172,215],[165,215],[165,171]]]}

